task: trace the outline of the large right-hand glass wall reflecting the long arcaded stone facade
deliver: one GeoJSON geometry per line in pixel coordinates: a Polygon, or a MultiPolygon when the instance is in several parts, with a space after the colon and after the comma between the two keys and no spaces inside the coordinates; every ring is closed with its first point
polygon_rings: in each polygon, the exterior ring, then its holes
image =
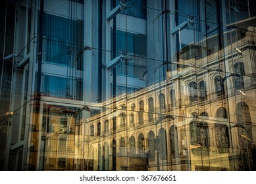
{"type": "Polygon", "coordinates": [[[247,136],[253,131],[238,126],[234,114],[241,108],[233,108],[245,100],[245,53],[239,51],[247,51],[242,45],[253,32],[247,29],[254,24],[252,2],[237,20],[227,15],[239,2],[109,3],[102,38],[109,41],[102,46],[106,90],[88,118],[91,127],[109,124],[90,134],[88,147],[99,155],[88,159],[91,170],[253,170],[247,136]]]}

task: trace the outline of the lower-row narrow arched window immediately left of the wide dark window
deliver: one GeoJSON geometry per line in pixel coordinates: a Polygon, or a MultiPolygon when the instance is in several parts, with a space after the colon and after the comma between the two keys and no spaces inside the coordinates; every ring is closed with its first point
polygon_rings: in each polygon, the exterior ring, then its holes
{"type": "Polygon", "coordinates": [[[170,155],[172,158],[180,158],[180,152],[178,147],[178,129],[173,125],[170,127],[170,155]]]}

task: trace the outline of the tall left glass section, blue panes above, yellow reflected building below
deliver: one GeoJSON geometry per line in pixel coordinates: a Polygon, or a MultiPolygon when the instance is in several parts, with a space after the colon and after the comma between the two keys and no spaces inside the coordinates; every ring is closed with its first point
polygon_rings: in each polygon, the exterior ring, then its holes
{"type": "Polygon", "coordinates": [[[37,7],[36,87],[26,169],[86,170],[84,1],[45,0],[37,7]]]}

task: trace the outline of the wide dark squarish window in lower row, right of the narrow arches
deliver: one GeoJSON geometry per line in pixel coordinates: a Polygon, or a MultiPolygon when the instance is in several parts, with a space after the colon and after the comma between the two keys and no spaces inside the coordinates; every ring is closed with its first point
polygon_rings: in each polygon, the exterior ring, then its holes
{"type": "Polygon", "coordinates": [[[190,123],[190,138],[192,145],[209,147],[209,127],[206,122],[192,121],[190,123]]]}

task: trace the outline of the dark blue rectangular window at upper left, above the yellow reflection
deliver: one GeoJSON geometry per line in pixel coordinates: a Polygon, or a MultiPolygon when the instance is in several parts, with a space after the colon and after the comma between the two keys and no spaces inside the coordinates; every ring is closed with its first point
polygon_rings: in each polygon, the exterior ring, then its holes
{"type": "Polygon", "coordinates": [[[71,56],[82,47],[82,21],[44,13],[42,26],[43,61],[75,67],[71,56]]]}

